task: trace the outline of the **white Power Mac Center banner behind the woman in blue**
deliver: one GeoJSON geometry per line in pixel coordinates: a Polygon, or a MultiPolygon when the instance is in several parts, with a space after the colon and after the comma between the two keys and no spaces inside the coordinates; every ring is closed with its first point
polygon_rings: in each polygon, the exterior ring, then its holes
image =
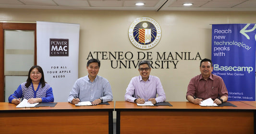
{"type": "Polygon", "coordinates": [[[55,102],[66,102],[78,78],[79,24],[37,22],[37,65],[53,89],[55,102]]]}

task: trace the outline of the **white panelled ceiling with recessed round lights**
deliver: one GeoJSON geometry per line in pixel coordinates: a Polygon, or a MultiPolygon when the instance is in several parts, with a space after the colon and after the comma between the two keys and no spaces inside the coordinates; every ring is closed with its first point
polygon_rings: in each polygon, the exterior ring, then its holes
{"type": "Polygon", "coordinates": [[[256,0],[0,0],[0,8],[118,11],[256,11],[256,0]],[[135,6],[143,2],[144,6],[135,6]],[[182,4],[191,2],[191,7],[182,4]]]}

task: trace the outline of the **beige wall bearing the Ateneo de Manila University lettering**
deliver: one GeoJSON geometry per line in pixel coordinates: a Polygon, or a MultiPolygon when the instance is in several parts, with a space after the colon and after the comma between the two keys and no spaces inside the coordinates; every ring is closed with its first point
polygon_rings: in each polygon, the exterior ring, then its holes
{"type": "MultiPolygon", "coordinates": [[[[137,52],[156,53],[191,52],[195,58],[211,58],[211,25],[218,23],[255,23],[256,11],[75,11],[75,10],[26,10],[0,9],[0,21],[48,21],[80,24],[79,77],[87,74],[86,58],[89,52],[137,52]],[[162,36],[157,46],[149,50],[134,47],[128,38],[130,24],[138,17],[151,17],[161,27],[162,36]]],[[[95,56],[95,55],[94,55],[95,56]]],[[[96,58],[96,57],[94,57],[96,58]]],[[[101,60],[101,57],[99,57],[101,60]]],[[[111,59],[114,60],[115,59],[111,59]]],[[[124,61],[124,60],[122,60],[124,61]]],[[[177,61],[177,60],[175,60],[177,61]]],[[[189,80],[199,74],[199,58],[178,59],[177,68],[152,69],[151,75],[158,76],[166,92],[167,101],[186,101],[185,94],[189,80]]],[[[113,101],[123,101],[127,85],[137,68],[112,68],[110,59],[101,60],[100,76],[110,81],[113,101]]],[[[166,66],[165,66],[166,67],[166,66]]],[[[47,79],[46,79],[47,81],[47,79]]]]}

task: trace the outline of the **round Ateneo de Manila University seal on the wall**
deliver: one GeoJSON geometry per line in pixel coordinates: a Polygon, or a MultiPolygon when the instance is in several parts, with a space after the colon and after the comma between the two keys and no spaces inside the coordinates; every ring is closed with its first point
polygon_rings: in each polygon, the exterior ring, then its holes
{"type": "Polygon", "coordinates": [[[129,38],[135,47],[150,49],[160,41],[160,25],[157,21],[149,17],[137,18],[129,28],[129,38]]]}

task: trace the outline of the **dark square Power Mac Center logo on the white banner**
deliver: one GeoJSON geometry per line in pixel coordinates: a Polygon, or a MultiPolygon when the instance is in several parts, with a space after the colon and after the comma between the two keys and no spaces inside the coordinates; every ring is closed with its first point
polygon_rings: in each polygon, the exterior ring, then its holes
{"type": "Polygon", "coordinates": [[[50,56],[69,56],[69,39],[50,39],[50,56]]]}

